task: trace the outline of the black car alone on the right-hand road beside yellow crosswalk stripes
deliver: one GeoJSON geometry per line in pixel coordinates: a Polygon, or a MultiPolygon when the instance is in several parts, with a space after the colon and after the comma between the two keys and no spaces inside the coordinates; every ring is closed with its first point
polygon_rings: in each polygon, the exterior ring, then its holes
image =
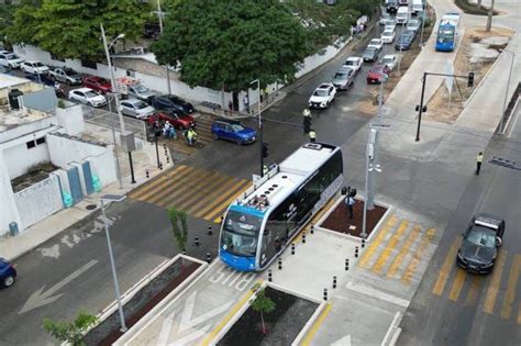
{"type": "Polygon", "coordinates": [[[479,213],[474,215],[457,252],[456,264],[476,274],[492,270],[505,232],[505,220],[499,216],[479,213]]]}

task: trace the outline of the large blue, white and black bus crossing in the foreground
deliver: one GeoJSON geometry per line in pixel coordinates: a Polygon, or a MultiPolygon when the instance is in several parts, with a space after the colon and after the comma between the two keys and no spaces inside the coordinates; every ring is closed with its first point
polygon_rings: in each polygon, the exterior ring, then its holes
{"type": "Polygon", "coordinates": [[[308,143],[230,204],[219,257],[240,271],[266,269],[343,182],[340,147],[308,143]]]}

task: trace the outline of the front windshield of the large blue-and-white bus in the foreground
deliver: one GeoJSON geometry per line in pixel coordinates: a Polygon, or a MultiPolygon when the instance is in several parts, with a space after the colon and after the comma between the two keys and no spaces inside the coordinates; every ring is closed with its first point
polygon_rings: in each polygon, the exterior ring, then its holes
{"type": "Polygon", "coordinates": [[[229,211],[221,236],[223,249],[236,256],[255,256],[262,222],[255,215],[229,211]]]}

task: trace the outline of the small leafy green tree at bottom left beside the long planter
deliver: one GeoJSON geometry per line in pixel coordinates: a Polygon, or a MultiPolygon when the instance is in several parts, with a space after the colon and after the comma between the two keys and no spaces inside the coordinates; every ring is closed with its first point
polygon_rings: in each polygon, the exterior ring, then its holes
{"type": "Polygon", "coordinates": [[[80,310],[78,316],[73,322],[60,322],[44,319],[42,326],[54,338],[59,342],[67,342],[73,346],[85,345],[84,333],[98,323],[98,317],[80,310]]]}

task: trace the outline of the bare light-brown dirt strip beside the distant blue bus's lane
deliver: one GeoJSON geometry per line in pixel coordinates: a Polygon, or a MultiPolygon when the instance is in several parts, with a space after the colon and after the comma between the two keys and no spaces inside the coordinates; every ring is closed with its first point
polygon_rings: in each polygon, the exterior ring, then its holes
{"type": "Polygon", "coordinates": [[[468,72],[474,72],[474,86],[468,88],[466,78],[455,78],[450,97],[445,83],[442,83],[429,100],[429,111],[424,114],[424,119],[454,123],[462,113],[465,101],[486,76],[512,35],[512,31],[502,27],[494,27],[490,32],[485,32],[483,27],[467,29],[454,60],[454,74],[467,76],[468,72]]]}

